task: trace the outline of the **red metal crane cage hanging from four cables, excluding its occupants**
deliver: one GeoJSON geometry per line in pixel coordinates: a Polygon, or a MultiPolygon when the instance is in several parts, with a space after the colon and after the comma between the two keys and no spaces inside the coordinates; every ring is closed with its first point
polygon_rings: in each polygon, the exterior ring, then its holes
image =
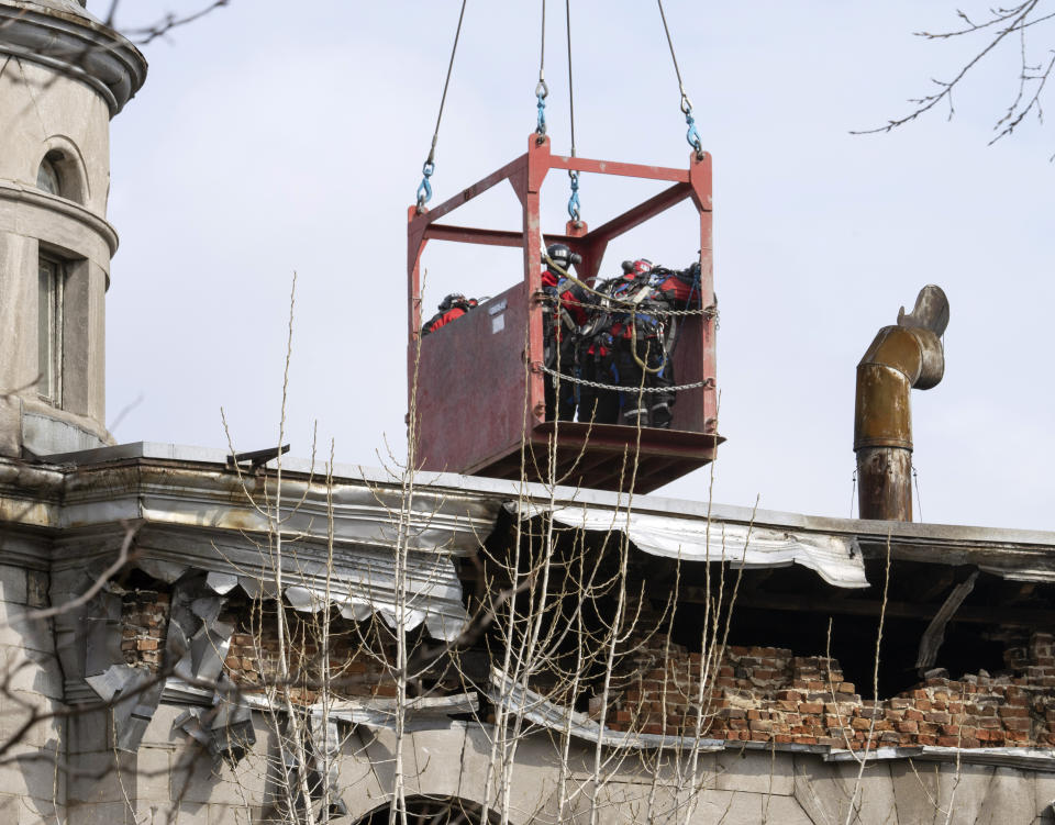
{"type": "Polygon", "coordinates": [[[528,152],[440,204],[409,210],[408,375],[414,391],[419,465],[492,478],[548,479],[548,447],[555,442],[554,478],[560,483],[648,492],[708,464],[723,441],[717,433],[713,313],[685,319],[674,353],[680,390],[670,430],[545,420],[540,190],[551,169],[668,181],[670,187],[596,230],[569,221],[546,243],[567,244],[582,261],[577,276],[592,282],[609,242],[676,203],[691,199],[700,216],[700,292],[714,302],[711,156],[692,153],[688,169],[565,157],[548,138],[532,134],[528,152]],[[523,227],[501,231],[438,223],[462,204],[508,180],[523,207],[523,227]],[[454,241],[523,249],[523,280],[447,324],[421,331],[421,256],[429,241],[454,241]],[[415,370],[417,368],[417,370],[415,370]],[[523,448],[523,449],[522,449],[523,448]]]}

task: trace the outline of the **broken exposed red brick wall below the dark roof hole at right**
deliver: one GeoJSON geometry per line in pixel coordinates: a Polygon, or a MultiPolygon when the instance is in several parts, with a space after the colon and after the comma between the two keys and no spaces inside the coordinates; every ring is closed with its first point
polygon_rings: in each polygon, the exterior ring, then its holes
{"type": "MultiPolygon", "coordinates": [[[[891,699],[862,699],[837,661],[773,647],[730,647],[710,675],[703,736],[833,747],[1055,745],[1053,636],[1006,651],[1008,673],[932,678],[891,699]]],[[[617,729],[691,735],[701,657],[653,638],[633,656],[634,682],[614,703],[617,729]],[[664,658],[666,654],[666,662],[664,658]]]]}

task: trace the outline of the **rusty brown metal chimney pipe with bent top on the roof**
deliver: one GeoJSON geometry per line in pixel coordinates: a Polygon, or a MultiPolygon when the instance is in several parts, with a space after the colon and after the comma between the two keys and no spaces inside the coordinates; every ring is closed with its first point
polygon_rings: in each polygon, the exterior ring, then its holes
{"type": "Polygon", "coordinates": [[[879,331],[857,365],[854,451],[862,519],[912,521],[910,393],[942,380],[947,325],[948,299],[929,285],[911,313],[902,306],[897,325],[879,331]]]}

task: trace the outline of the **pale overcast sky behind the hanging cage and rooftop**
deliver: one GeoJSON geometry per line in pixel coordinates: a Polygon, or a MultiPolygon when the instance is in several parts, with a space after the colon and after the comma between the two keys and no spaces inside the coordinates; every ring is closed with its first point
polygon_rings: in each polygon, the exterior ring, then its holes
{"type": "MultiPolygon", "coordinates": [[[[204,4],[126,0],[119,22],[204,4]]],[[[108,415],[119,442],[236,447],[277,438],[288,296],[299,274],[288,439],[311,428],[338,461],[401,448],[406,210],[436,116],[457,0],[231,0],[145,47],[146,86],[113,122],[108,415]],[[116,419],[120,417],[120,421],[116,419]]],[[[541,3],[469,0],[440,133],[434,203],[522,154],[534,127],[541,3]]],[[[109,0],[90,0],[103,14],[109,0]]],[[[690,2],[667,16],[714,156],[720,297],[717,501],[851,514],[854,369],[919,289],[952,306],[945,379],[913,395],[923,521],[1055,528],[1051,330],[1055,130],[988,147],[1015,91],[1017,46],[956,97],[889,135],[969,43],[926,43],[955,3],[690,2]]],[[[969,2],[981,11],[986,3],[969,2]]],[[[546,77],[567,152],[564,5],[549,0],[546,77]]],[[[577,148],[685,166],[678,90],[655,4],[574,0],[577,148]]],[[[1048,24],[1051,25],[1051,24],[1048,24]]],[[[1044,31],[1037,32],[1043,37],[1044,31]]],[[[1051,43],[1037,41],[1040,56],[1051,43]]],[[[599,225],[653,190],[584,178],[599,225]]],[[[544,218],[563,226],[553,176],[544,218]]],[[[465,221],[519,225],[508,187],[465,221]]],[[[610,247],[682,266],[685,205],[610,247]]],[[[518,253],[433,244],[425,312],[449,291],[496,294],[518,253]]],[[[481,393],[486,387],[481,386],[481,393]]],[[[467,425],[488,414],[466,404],[467,425]]],[[[708,495],[708,472],[664,494],[708,495]]]]}

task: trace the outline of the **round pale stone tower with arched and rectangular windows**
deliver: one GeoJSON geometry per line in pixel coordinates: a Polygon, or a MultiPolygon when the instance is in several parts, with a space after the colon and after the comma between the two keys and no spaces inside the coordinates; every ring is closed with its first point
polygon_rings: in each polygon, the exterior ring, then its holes
{"type": "Polygon", "coordinates": [[[146,60],[76,0],[0,0],[0,455],[106,426],[110,119],[146,60]]]}

